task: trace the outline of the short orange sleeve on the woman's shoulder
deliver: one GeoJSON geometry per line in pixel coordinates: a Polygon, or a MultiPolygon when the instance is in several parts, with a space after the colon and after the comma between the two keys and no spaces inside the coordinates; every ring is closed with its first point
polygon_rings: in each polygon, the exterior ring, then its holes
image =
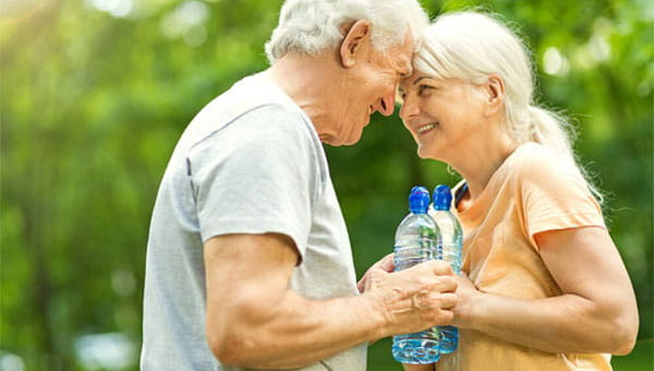
{"type": "Polygon", "coordinates": [[[573,164],[554,153],[540,154],[522,160],[519,171],[530,239],[546,230],[605,227],[602,208],[573,164]]]}

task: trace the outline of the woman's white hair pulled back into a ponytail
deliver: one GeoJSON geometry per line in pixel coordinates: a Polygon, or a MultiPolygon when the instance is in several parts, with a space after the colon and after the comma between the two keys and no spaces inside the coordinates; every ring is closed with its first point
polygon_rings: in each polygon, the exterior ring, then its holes
{"type": "MultiPolygon", "coordinates": [[[[536,142],[556,149],[577,165],[568,120],[534,101],[535,73],[530,51],[521,39],[489,14],[465,11],[438,16],[427,27],[415,52],[417,70],[438,79],[460,79],[483,84],[498,74],[505,83],[505,123],[519,144],[536,142]]],[[[602,203],[602,194],[588,180],[602,203]]]]}

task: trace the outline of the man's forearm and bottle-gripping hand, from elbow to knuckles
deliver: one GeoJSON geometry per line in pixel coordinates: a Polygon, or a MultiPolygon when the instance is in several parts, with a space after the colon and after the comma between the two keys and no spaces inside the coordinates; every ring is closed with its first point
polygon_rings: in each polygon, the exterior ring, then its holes
{"type": "Polygon", "coordinates": [[[207,334],[225,364],[303,367],[362,343],[450,324],[456,287],[449,264],[436,261],[391,274],[374,270],[354,297],[308,300],[241,285],[207,322],[207,334]]]}

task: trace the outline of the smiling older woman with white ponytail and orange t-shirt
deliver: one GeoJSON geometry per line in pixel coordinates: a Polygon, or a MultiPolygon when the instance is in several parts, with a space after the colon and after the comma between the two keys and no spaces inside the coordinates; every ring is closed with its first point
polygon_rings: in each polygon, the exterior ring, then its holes
{"type": "Polygon", "coordinates": [[[408,370],[610,370],[634,345],[635,298],[602,198],[533,87],[520,39],[474,12],[438,17],[400,85],[419,156],[464,178],[459,349],[408,370]]]}

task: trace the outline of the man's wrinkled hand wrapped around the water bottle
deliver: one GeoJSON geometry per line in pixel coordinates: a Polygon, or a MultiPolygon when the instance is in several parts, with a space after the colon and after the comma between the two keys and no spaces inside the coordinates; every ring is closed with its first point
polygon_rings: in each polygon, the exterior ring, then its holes
{"type": "Polygon", "coordinates": [[[375,300],[375,308],[385,316],[383,336],[452,322],[457,280],[447,262],[428,261],[395,273],[385,270],[389,264],[391,255],[373,265],[359,283],[363,295],[375,300]]]}

